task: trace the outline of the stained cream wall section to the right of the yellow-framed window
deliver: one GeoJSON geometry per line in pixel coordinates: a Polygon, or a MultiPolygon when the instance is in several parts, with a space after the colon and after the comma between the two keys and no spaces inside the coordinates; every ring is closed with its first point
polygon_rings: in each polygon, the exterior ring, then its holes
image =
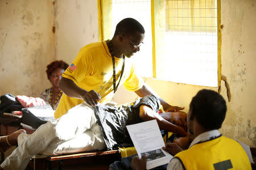
{"type": "Polygon", "coordinates": [[[222,74],[232,92],[221,131],[256,147],[256,2],[223,0],[221,13],[222,74]]]}

